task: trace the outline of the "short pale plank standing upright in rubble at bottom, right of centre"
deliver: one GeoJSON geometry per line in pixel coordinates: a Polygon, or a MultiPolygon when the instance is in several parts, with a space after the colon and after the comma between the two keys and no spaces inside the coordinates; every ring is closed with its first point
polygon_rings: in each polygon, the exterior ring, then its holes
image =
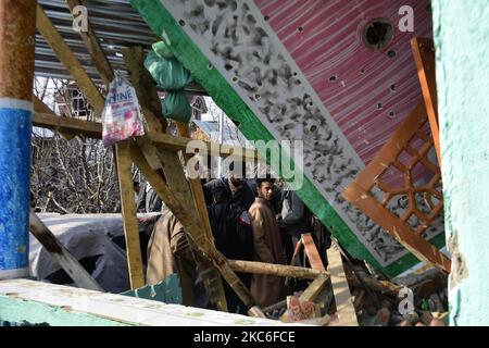
{"type": "Polygon", "coordinates": [[[353,298],[348,286],[341,254],[335,245],[327,250],[328,269],[331,275],[333,294],[340,326],[359,326],[353,298]]]}

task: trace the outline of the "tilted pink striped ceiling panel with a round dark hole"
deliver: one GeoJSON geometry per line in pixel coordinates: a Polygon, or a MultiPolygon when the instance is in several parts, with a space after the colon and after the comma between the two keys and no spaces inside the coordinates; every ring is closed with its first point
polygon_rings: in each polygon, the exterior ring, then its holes
{"type": "Polygon", "coordinates": [[[410,40],[432,36],[430,1],[254,1],[367,164],[422,98],[410,40]],[[414,9],[414,33],[398,28],[402,5],[414,9]],[[394,35],[374,51],[362,33],[378,17],[392,23],[394,35]]]}

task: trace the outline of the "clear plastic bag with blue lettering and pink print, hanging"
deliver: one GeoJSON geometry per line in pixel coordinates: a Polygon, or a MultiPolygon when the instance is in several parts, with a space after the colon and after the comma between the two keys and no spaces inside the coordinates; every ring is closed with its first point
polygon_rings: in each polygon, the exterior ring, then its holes
{"type": "Polygon", "coordinates": [[[145,134],[136,90],[120,74],[109,86],[102,112],[102,142],[105,147],[145,134]]]}

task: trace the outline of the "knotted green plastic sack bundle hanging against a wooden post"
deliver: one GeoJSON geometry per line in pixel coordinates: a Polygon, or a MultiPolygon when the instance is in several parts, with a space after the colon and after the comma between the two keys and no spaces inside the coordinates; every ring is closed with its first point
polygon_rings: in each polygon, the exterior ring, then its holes
{"type": "Polygon", "coordinates": [[[152,51],[148,54],[145,66],[156,84],[166,91],[163,115],[187,123],[192,115],[192,109],[184,88],[191,80],[190,72],[171,54],[170,49],[163,42],[156,42],[153,45],[153,49],[155,52],[152,51]]]}

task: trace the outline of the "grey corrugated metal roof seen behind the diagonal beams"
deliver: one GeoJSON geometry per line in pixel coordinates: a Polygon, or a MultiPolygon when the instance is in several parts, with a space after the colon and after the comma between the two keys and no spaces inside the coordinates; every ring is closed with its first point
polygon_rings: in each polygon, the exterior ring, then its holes
{"type": "MultiPolygon", "coordinates": [[[[73,30],[73,16],[66,1],[38,0],[38,3],[78,58],[88,75],[93,82],[101,83],[82,37],[73,30]]],[[[129,4],[129,0],[84,0],[83,4],[88,10],[88,21],[114,70],[125,70],[121,54],[124,47],[141,45],[149,50],[151,44],[158,40],[139,13],[129,4]]],[[[72,79],[70,73],[39,33],[36,33],[36,75],[72,79]]]]}

